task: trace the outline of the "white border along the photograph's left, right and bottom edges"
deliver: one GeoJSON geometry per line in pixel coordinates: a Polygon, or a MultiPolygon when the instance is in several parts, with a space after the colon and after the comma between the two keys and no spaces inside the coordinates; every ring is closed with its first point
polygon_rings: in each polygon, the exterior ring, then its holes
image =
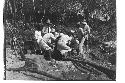
{"type": "MultiPolygon", "coordinates": [[[[116,81],[78,81],[78,82],[86,82],[86,83],[90,83],[90,82],[94,82],[94,83],[97,83],[97,82],[110,82],[110,83],[114,83],[114,82],[118,82],[118,83],[124,83],[124,79],[125,79],[125,69],[124,69],[124,59],[125,59],[125,51],[124,51],[124,38],[125,38],[125,1],[124,0],[116,0],[117,1],[117,79],[116,81]]],[[[4,71],[4,65],[3,65],[3,41],[4,41],[4,32],[3,32],[3,4],[4,4],[4,0],[0,0],[0,25],[1,25],[1,28],[0,28],[0,79],[3,80],[4,78],[4,74],[3,74],[3,71],[4,71]]],[[[8,82],[12,82],[12,83],[21,83],[21,82],[24,82],[24,83],[31,83],[31,82],[50,82],[50,81],[1,81],[1,83],[5,82],[5,83],[8,83],[8,82]]],[[[53,83],[55,83],[55,81],[52,81],[53,83]]],[[[56,82],[59,82],[59,81],[56,81],[56,82]]],[[[66,81],[62,81],[62,82],[66,82],[66,81]]],[[[70,81],[68,81],[69,83],[70,81]]],[[[71,81],[73,82],[73,81],[71,81]]],[[[76,82],[76,81],[74,81],[76,82]]]]}

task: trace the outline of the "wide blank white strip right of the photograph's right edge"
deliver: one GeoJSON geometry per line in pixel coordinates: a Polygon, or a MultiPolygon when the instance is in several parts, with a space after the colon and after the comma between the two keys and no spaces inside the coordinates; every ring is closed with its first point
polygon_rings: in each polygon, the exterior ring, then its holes
{"type": "Polygon", "coordinates": [[[124,64],[124,59],[125,59],[125,51],[124,51],[124,46],[125,46],[125,28],[124,28],[124,18],[125,18],[125,4],[124,0],[117,0],[117,82],[124,83],[125,79],[125,64],[124,64]]]}

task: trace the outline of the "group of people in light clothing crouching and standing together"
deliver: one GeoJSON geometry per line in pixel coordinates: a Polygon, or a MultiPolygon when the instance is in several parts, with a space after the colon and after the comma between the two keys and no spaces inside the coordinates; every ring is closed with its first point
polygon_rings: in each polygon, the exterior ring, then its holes
{"type": "MultiPolygon", "coordinates": [[[[87,22],[79,22],[78,29],[75,30],[56,30],[52,27],[37,27],[35,39],[42,51],[53,61],[52,52],[60,53],[64,57],[75,51],[78,55],[83,53],[84,42],[90,33],[90,27],[87,22]],[[77,35],[75,35],[77,33],[77,35]]],[[[57,56],[58,57],[58,56],[57,56]]]]}

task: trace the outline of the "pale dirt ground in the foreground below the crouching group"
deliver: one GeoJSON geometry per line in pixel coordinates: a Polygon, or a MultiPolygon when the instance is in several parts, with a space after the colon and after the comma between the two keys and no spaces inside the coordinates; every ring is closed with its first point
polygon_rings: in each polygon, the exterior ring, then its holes
{"type": "Polygon", "coordinates": [[[26,54],[28,61],[17,57],[10,48],[6,48],[6,80],[108,80],[105,75],[95,76],[79,71],[71,61],[56,61],[53,65],[43,55],[26,54]]]}

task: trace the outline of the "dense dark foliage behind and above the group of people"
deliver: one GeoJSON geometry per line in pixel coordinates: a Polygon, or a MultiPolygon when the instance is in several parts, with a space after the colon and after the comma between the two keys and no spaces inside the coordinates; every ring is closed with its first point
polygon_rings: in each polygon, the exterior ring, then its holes
{"type": "Polygon", "coordinates": [[[56,26],[69,29],[76,29],[77,22],[86,19],[91,27],[88,43],[92,50],[98,51],[104,42],[116,41],[116,0],[5,0],[5,34],[29,38],[27,34],[34,31],[32,23],[38,24],[41,19],[44,23],[50,19],[56,26]]]}

